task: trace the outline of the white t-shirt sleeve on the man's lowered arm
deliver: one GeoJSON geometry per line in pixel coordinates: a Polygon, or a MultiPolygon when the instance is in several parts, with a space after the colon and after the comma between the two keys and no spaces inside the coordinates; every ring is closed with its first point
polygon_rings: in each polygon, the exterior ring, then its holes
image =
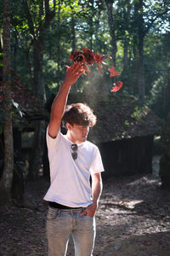
{"type": "Polygon", "coordinates": [[[104,172],[104,166],[101,159],[101,155],[99,153],[99,148],[95,148],[94,150],[94,158],[92,164],[90,166],[90,173],[104,172]]]}

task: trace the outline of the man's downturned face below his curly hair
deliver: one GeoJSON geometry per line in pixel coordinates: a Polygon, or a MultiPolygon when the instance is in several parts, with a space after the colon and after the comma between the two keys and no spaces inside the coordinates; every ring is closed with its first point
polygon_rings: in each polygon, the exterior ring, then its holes
{"type": "Polygon", "coordinates": [[[67,128],[73,143],[83,143],[87,140],[89,126],[67,124],[67,128]]]}

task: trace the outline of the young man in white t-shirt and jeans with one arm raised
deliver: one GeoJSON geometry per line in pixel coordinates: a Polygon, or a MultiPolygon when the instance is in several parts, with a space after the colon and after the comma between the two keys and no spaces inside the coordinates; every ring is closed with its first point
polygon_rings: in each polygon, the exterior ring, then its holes
{"type": "Polygon", "coordinates": [[[95,125],[93,111],[82,103],[65,108],[71,84],[82,75],[81,64],[67,69],[64,83],[51,109],[47,130],[51,184],[44,197],[48,201],[48,255],[66,255],[72,236],[75,255],[92,256],[95,238],[94,214],[102,190],[104,171],[99,149],[87,141],[89,127],[95,125]],[[60,132],[61,120],[67,132],[60,132]],[[92,184],[90,186],[90,176],[92,184]]]}

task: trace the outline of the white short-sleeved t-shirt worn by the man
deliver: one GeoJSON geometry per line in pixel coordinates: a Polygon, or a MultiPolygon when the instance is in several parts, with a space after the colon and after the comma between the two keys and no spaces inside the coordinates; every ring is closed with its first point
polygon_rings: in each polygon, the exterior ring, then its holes
{"type": "Polygon", "coordinates": [[[88,141],[78,144],[77,160],[72,158],[71,144],[60,131],[56,138],[47,130],[50,187],[45,201],[54,201],[66,207],[88,207],[92,203],[90,174],[103,172],[99,148],[88,141]]]}

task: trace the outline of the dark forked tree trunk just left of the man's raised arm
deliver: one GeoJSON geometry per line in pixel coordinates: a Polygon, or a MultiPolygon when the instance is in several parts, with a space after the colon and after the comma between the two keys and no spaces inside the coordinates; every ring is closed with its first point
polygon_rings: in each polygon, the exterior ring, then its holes
{"type": "Polygon", "coordinates": [[[32,36],[32,45],[33,45],[33,60],[34,60],[34,77],[33,77],[33,91],[36,96],[41,100],[42,104],[44,103],[44,83],[42,80],[42,56],[44,49],[44,42],[46,39],[46,32],[48,32],[48,27],[50,21],[53,20],[55,15],[55,6],[51,10],[49,8],[49,0],[44,0],[39,3],[39,6],[36,6],[37,3],[34,3],[34,8],[39,9],[38,12],[33,10],[34,13],[31,13],[31,8],[27,0],[23,0],[23,6],[26,12],[26,18],[28,21],[29,30],[32,36]],[[36,18],[35,18],[36,15],[36,18]],[[36,21],[35,21],[36,20],[36,21]],[[38,24],[37,24],[38,23],[38,24]]]}

